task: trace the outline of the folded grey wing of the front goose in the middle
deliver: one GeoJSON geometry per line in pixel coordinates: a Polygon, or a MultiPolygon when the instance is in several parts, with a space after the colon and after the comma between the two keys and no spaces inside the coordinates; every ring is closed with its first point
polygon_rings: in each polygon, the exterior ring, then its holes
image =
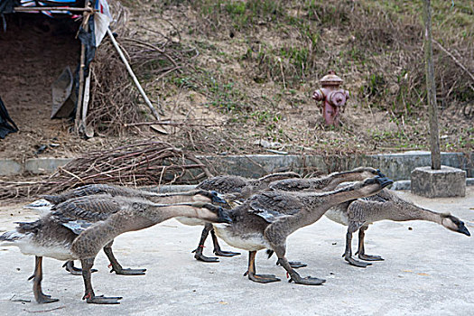
{"type": "Polygon", "coordinates": [[[302,203],[296,197],[282,192],[262,192],[248,202],[248,212],[264,218],[268,223],[292,216],[302,210],[302,203]]]}

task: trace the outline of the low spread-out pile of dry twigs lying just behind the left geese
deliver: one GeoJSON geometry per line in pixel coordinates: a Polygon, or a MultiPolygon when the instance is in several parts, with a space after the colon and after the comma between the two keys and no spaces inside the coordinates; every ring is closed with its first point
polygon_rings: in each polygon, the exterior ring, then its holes
{"type": "Polygon", "coordinates": [[[41,181],[8,182],[0,199],[56,193],[90,183],[130,186],[190,183],[212,176],[193,154],[161,142],[129,144],[107,151],[87,153],[41,181]]]}

